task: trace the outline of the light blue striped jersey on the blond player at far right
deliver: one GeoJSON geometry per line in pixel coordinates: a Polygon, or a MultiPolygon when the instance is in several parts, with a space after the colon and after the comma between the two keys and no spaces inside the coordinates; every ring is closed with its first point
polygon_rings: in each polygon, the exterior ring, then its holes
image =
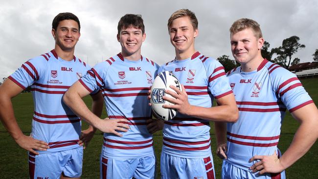
{"type": "MultiPolygon", "coordinates": [[[[313,103],[294,73],[264,61],[251,72],[227,72],[239,109],[236,123],[227,123],[227,161],[249,170],[255,155],[277,153],[280,127],[290,112],[313,103]]],[[[277,153],[278,154],[278,153],[277,153]]]]}

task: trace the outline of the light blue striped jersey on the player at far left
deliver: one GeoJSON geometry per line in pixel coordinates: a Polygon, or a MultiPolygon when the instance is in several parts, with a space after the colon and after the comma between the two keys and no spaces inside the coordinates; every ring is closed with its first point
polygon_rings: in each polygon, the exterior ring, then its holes
{"type": "Polygon", "coordinates": [[[53,49],[28,60],[8,77],[23,89],[31,86],[34,102],[31,135],[50,147],[39,153],[79,147],[81,119],[63,103],[62,96],[89,69],[75,56],[72,61],[61,59],[53,49]]]}

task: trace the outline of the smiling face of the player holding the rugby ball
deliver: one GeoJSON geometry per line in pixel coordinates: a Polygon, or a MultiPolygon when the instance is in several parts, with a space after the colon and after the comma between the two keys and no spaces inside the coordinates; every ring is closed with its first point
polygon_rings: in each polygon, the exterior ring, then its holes
{"type": "Polygon", "coordinates": [[[179,54],[190,57],[195,52],[194,39],[198,35],[198,29],[194,29],[188,16],[173,20],[169,26],[169,34],[177,57],[179,54]]]}

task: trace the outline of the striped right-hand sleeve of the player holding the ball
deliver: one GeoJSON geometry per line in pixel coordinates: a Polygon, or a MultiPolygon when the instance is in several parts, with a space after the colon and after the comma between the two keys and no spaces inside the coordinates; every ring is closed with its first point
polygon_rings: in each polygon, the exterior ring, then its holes
{"type": "Polygon", "coordinates": [[[233,93],[229,87],[229,82],[225,74],[224,67],[215,59],[206,60],[206,62],[209,62],[206,67],[208,75],[208,90],[211,92],[214,98],[218,99],[233,93]]]}

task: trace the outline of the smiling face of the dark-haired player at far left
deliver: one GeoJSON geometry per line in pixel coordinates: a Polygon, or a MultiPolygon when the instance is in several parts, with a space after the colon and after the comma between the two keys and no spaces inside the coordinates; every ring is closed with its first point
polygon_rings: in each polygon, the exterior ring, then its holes
{"type": "Polygon", "coordinates": [[[63,51],[74,51],[75,45],[81,36],[78,23],[73,20],[60,21],[56,30],[52,29],[55,45],[63,51]]]}

